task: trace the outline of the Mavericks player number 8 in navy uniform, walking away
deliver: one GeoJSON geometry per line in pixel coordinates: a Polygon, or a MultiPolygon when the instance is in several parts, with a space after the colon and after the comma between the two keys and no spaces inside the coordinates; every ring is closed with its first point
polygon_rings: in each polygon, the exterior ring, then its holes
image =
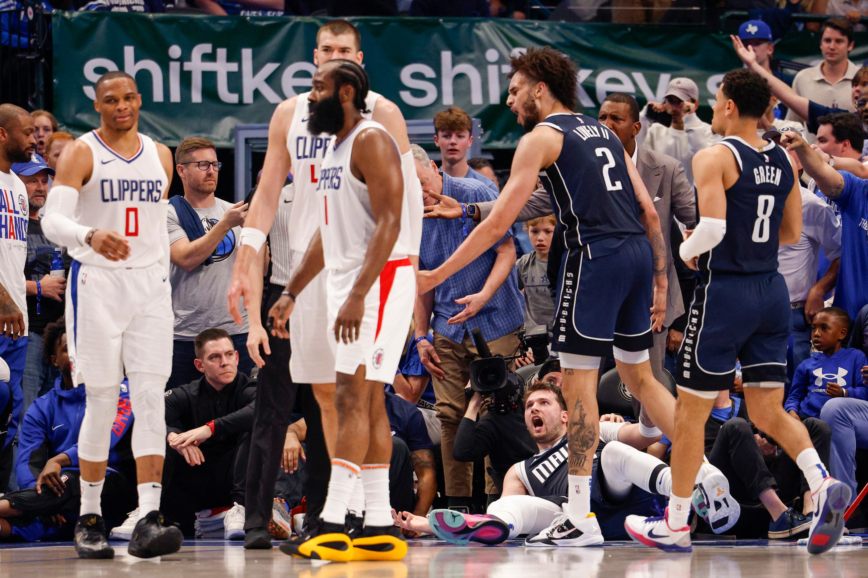
{"type": "Polygon", "coordinates": [[[694,156],[700,222],[681,244],[681,258],[700,271],[701,280],[675,373],[672,497],[666,516],[629,516],[624,523],[630,536],[648,546],[692,548],[687,514],[702,432],[717,394],[733,385],[736,360],[753,423],[784,448],[811,487],[808,552],[825,552],[844,532],[850,488],[829,476],[805,425],[783,406],[790,315],[778,246],[799,241],[802,203],[786,151],[756,134],[771,96],[755,72],[727,73],[712,119],[712,130],[724,139],[694,156]]]}

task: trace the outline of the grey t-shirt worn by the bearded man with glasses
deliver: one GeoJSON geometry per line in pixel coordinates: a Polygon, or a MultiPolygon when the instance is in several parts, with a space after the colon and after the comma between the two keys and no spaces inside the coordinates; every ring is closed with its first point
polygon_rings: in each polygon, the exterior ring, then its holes
{"type": "MultiPolygon", "coordinates": [[[[232,208],[221,198],[214,198],[214,205],[207,209],[195,209],[201,218],[205,232],[217,224],[224,213],[232,208]]],[[[232,321],[226,308],[226,295],[235,264],[235,249],[240,242],[241,227],[233,227],[211,254],[214,263],[207,267],[199,265],[185,271],[172,263],[169,279],[172,283],[172,308],[174,309],[174,338],[193,341],[205,329],[225,329],[230,335],[247,333],[247,311],[241,307],[244,324],[239,327],[232,321]]],[[[187,233],[181,228],[178,213],[168,205],[168,244],[173,244],[187,233]]]]}

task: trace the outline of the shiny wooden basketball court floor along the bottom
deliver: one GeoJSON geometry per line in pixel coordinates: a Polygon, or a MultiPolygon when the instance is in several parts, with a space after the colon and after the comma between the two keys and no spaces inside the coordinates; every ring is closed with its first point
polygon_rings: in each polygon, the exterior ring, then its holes
{"type": "MultiPolygon", "coordinates": [[[[795,542],[694,542],[692,554],[667,554],[635,542],[595,548],[451,546],[412,540],[401,562],[308,562],[279,549],[245,550],[241,542],[196,540],[151,560],[115,543],[115,560],[79,560],[70,542],[4,545],[0,578],[801,578],[868,576],[868,547],[840,546],[809,555],[795,542]]],[[[278,542],[274,542],[275,545],[278,542]]]]}

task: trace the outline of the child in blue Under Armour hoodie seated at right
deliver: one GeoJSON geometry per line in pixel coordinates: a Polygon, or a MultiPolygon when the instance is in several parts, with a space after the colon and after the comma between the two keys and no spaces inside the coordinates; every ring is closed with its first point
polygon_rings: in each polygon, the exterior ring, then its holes
{"type": "Polygon", "coordinates": [[[862,367],[868,365],[861,349],[845,349],[850,315],[838,307],[820,309],[811,323],[811,341],[819,353],[802,361],[792,376],[784,409],[798,419],[818,418],[832,398],[868,399],[862,367]]]}

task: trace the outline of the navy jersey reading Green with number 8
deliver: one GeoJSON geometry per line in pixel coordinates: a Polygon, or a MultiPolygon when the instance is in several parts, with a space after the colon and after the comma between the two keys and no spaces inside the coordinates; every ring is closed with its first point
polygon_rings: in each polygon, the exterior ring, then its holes
{"type": "Polygon", "coordinates": [[[719,146],[733,152],[741,174],[726,192],[727,234],[700,256],[700,271],[776,271],[780,224],[795,179],[790,157],[772,141],[757,150],[739,137],[727,137],[719,146]]]}

